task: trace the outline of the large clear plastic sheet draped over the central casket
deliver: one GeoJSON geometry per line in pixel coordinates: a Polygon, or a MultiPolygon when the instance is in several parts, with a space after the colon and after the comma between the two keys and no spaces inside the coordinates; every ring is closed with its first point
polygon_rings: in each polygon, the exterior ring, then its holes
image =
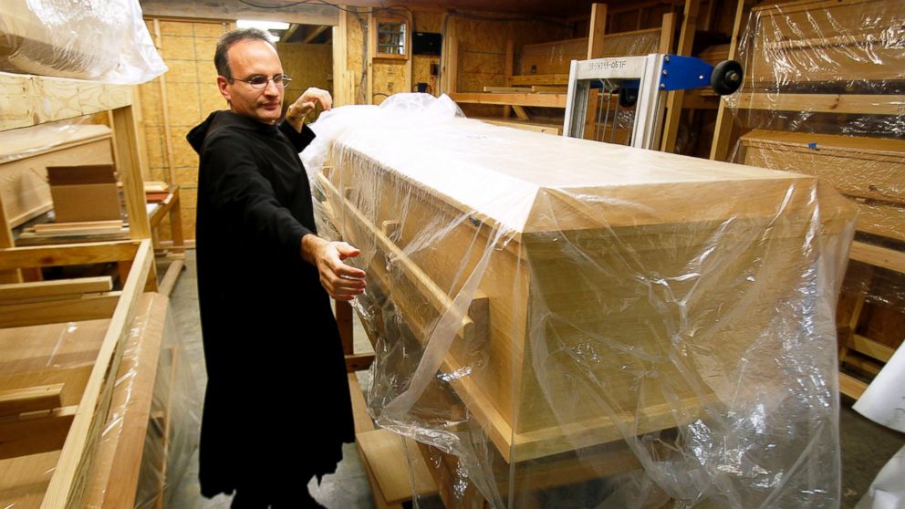
{"type": "Polygon", "coordinates": [[[369,411],[447,506],[837,506],[856,212],[828,185],[424,94],[313,128],[320,232],[368,271],[369,411]]]}

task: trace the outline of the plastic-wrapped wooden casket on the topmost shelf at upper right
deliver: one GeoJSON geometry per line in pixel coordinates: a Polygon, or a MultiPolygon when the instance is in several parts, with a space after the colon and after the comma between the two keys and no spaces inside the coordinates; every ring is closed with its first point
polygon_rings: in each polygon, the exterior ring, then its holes
{"type": "Polygon", "coordinates": [[[755,83],[905,78],[900,0],[801,0],[754,7],[752,16],[745,74],[755,83]]]}

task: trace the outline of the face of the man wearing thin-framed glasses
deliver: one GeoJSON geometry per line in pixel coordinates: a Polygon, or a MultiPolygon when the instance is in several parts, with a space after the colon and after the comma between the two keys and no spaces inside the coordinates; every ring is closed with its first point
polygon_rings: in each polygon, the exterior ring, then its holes
{"type": "Polygon", "coordinates": [[[240,81],[255,76],[273,78],[283,74],[276,49],[262,40],[244,40],[230,47],[227,56],[234,79],[230,83],[226,78],[218,77],[217,86],[230,102],[230,109],[268,124],[279,120],[283,107],[283,88],[277,87],[272,79],[260,90],[240,81]]]}

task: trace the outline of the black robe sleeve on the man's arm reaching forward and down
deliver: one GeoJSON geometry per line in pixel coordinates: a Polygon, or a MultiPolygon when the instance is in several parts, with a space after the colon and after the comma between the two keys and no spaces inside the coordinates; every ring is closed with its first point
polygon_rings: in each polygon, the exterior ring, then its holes
{"type": "Polygon", "coordinates": [[[301,239],[313,234],[276,200],[270,181],[258,170],[253,146],[224,134],[204,144],[208,199],[238,229],[235,234],[289,259],[301,259],[301,239]]]}

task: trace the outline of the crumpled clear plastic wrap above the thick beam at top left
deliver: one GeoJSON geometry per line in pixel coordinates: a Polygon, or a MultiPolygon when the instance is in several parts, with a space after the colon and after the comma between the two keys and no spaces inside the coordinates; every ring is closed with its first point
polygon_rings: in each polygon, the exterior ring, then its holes
{"type": "Polygon", "coordinates": [[[138,0],[4,0],[0,70],[137,85],[166,72],[138,0]]]}

